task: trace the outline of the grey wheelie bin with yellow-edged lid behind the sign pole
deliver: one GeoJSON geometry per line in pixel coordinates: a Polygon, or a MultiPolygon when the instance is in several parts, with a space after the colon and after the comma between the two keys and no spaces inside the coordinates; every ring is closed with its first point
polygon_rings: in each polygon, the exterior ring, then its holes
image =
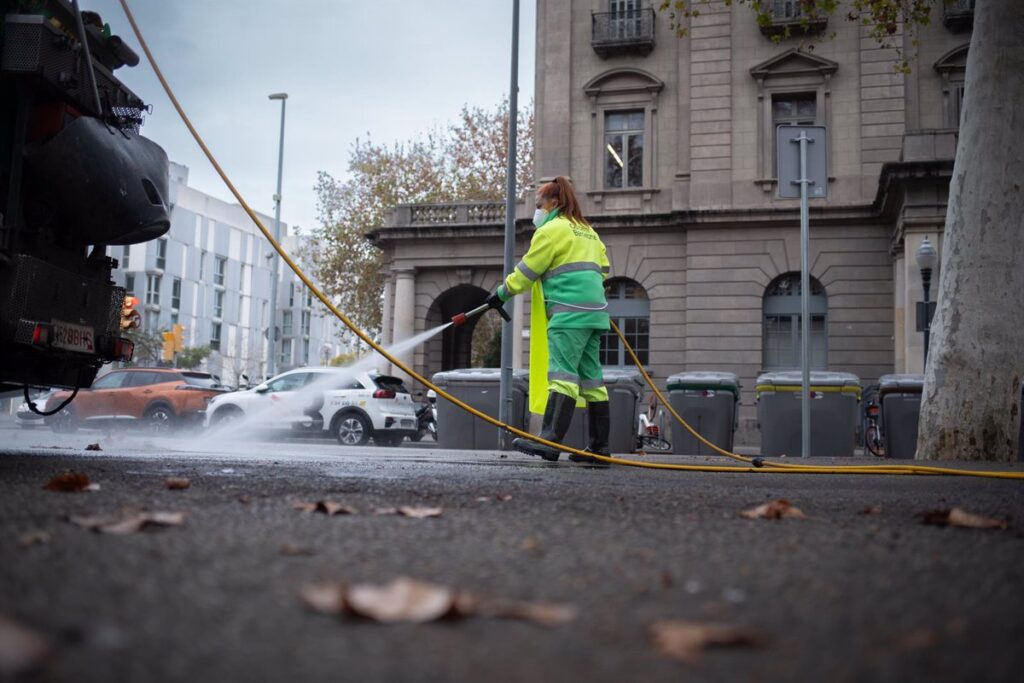
{"type": "MultiPolygon", "coordinates": [[[[799,372],[765,373],[755,387],[761,455],[800,457],[799,372]]],[[[860,379],[850,373],[811,373],[811,456],[853,456],[857,439],[860,379]]]]}

